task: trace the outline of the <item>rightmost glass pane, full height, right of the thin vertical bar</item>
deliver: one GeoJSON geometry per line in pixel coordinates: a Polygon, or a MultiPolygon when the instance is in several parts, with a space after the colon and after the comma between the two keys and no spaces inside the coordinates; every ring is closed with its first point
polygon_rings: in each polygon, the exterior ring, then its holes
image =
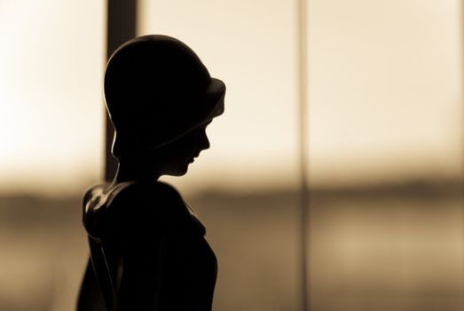
{"type": "Polygon", "coordinates": [[[460,1],[313,0],[315,310],[461,310],[460,1]]]}

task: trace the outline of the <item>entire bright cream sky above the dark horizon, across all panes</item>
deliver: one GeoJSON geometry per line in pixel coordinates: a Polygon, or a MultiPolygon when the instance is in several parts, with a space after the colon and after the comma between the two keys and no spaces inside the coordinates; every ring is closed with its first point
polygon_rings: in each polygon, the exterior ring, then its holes
{"type": "MultiPolygon", "coordinates": [[[[101,176],[104,3],[0,4],[3,191],[70,190],[101,176]]],[[[177,36],[228,86],[226,112],[209,129],[212,148],[179,180],[295,186],[294,4],[139,7],[140,35],[177,36]]],[[[311,1],[312,184],[462,177],[460,12],[458,0],[311,1]]]]}

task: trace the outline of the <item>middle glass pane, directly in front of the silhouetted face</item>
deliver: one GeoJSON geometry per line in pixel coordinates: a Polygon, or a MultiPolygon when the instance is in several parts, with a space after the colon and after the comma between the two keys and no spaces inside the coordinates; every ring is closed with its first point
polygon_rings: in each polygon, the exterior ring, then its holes
{"type": "Polygon", "coordinates": [[[215,309],[299,305],[295,8],[284,1],[141,1],[140,35],[191,46],[227,85],[211,148],[181,179],[219,260],[215,309]],[[263,8],[265,13],[263,13],[263,8]]]}

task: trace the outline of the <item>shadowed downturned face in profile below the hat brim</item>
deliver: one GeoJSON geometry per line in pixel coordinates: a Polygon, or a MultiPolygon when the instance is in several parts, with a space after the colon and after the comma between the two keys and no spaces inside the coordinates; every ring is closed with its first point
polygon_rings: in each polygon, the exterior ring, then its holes
{"type": "Polygon", "coordinates": [[[200,155],[202,150],[209,148],[206,128],[211,121],[195,127],[192,131],[177,140],[151,151],[160,175],[182,176],[188,170],[188,165],[200,155]]]}

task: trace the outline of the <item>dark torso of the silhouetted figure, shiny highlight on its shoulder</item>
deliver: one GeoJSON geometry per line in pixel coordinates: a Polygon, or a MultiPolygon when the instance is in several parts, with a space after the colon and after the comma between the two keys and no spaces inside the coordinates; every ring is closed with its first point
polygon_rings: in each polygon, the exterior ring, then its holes
{"type": "Polygon", "coordinates": [[[216,256],[174,188],[93,187],[84,206],[84,225],[104,247],[118,310],[211,310],[216,256]]]}

